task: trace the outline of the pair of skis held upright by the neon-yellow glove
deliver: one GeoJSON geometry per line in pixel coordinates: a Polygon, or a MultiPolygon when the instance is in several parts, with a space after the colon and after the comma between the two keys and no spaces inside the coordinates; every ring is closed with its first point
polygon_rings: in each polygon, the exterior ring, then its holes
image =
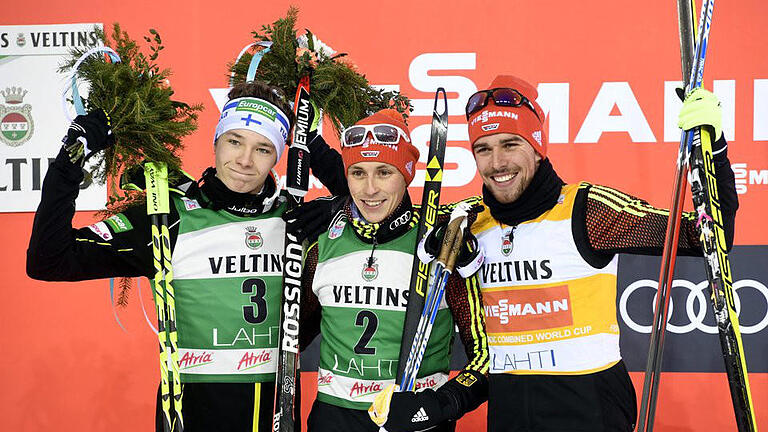
{"type": "MultiPolygon", "coordinates": [[[[693,0],[678,0],[680,54],[684,79],[686,79],[685,74],[690,71],[686,81],[686,95],[702,85],[713,7],[714,0],[703,1],[694,51],[692,41],[695,5],[693,0]]],[[[752,432],[757,430],[757,424],[733,297],[731,267],[715,180],[712,134],[707,128],[702,127],[685,131],[680,140],[637,430],[638,432],[653,430],[669,296],[680,233],[680,216],[685,198],[684,185],[689,167],[691,195],[694,209],[698,214],[697,224],[701,230],[707,280],[712,291],[712,306],[725,360],[736,425],[740,432],[752,432]]]]}

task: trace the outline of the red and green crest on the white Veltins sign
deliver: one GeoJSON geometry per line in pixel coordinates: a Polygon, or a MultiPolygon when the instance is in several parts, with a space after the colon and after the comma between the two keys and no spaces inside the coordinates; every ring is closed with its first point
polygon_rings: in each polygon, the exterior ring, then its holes
{"type": "Polygon", "coordinates": [[[8,87],[0,90],[0,94],[5,99],[4,104],[0,103],[0,141],[18,147],[32,138],[32,105],[22,105],[27,91],[21,87],[8,87]]]}

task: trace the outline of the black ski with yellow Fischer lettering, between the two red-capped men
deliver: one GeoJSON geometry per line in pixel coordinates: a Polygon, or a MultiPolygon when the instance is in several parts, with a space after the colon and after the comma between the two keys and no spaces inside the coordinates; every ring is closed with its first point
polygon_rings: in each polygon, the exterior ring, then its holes
{"type": "MultiPolygon", "coordinates": [[[[427,154],[427,170],[424,180],[424,192],[421,195],[421,211],[417,239],[421,240],[429,228],[437,221],[437,211],[440,205],[440,185],[443,181],[443,160],[445,159],[445,144],[448,140],[448,98],[445,89],[440,87],[435,92],[435,105],[432,111],[432,130],[427,154]],[[443,112],[437,112],[437,104],[442,94],[443,112]]],[[[419,327],[419,319],[424,310],[429,278],[429,264],[421,262],[416,254],[417,244],[413,253],[413,270],[408,291],[408,305],[405,309],[405,324],[403,337],[400,341],[400,357],[397,366],[395,382],[401,384],[404,372],[408,366],[408,358],[414,338],[419,327]]]]}

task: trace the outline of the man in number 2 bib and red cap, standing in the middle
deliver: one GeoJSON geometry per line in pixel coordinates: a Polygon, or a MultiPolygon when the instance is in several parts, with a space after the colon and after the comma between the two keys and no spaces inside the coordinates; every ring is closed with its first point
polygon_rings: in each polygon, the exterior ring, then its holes
{"type": "MultiPolygon", "coordinates": [[[[477,280],[471,276],[465,281],[460,271],[451,275],[416,380],[419,393],[392,396],[418,241],[418,210],[407,188],[419,151],[395,110],[360,120],[343,132],[341,141],[346,187],[334,184],[329,189],[350,199],[330,226],[326,222],[323,232],[310,234],[302,277],[302,344],[318,329],[323,335],[318,395],[308,429],[377,432],[379,425],[367,410],[387,389],[391,399],[376,416],[387,430],[452,431],[454,421],[475,409],[487,392],[487,349],[477,337],[483,327],[477,280]],[[469,362],[449,380],[454,324],[469,362]]],[[[313,156],[327,158],[324,171],[338,165],[330,151],[327,146],[312,149],[313,156]]],[[[438,222],[449,211],[441,208],[438,222]]],[[[306,219],[304,210],[286,217],[289,230],[301,228],[304,233],[315,222],[306,219]]]]}

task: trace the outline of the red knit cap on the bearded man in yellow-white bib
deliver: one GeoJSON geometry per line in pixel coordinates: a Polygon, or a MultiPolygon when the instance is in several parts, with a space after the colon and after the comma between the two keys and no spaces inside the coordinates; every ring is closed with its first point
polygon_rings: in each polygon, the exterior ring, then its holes
{"type": "Polygon", "coordinates": [[[511,88],[531,101],[536,110],[523,104],[519,107],[497,106],[493,99],[488,99],[488,105],[469,118],[469,142],[474,143],[478,138],[498,133],[513,133],[525,138],[542,158],[547,157],[547,135],[544,133],[544,111],[536,98],[539,92],[536,88],[518,77],[499,75],[488,86],[488,89],[511,88]]]}

